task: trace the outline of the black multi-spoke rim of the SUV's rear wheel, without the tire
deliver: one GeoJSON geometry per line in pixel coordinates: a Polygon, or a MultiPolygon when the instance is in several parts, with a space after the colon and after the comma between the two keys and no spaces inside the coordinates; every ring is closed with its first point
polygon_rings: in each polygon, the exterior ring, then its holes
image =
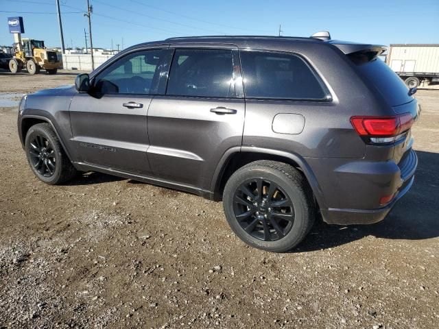
{"type": "Polygon", "coordinates": [[[241,228],[263,241],[283,239],[294,224],[294,206],[287,193],[263,178],[248,180],[237,188],[233,212],[241,228]]]}

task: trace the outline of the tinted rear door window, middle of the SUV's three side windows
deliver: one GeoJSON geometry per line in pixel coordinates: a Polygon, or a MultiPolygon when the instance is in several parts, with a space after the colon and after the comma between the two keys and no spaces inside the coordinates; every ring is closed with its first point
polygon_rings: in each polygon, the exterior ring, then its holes
{"type": "Polygon", "coordinates": [[[167,95],[236,97],[230,50],[177,49],[172,60],[167,95]]]}

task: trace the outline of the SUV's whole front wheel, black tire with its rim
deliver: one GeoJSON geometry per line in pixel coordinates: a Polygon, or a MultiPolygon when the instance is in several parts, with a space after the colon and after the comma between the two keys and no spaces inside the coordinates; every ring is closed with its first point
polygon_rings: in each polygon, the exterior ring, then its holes
{"type": "Polygon", "coordinates": [[[47,184],[62,184],[76,174],[76,169],[49,123],[38,123],[29,128],[25,151],[34,175],[47,184]]]}

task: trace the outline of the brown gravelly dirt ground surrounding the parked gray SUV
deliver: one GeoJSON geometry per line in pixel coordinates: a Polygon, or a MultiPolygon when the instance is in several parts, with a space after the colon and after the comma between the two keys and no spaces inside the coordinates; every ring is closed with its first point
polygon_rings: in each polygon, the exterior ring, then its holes
{"type": "MultiPolygon", "coordinates": [[[[0,73],[0,93],[75,73],[0,73]]],[[[410,193],[381,223],[247,247],[222,204],[88,173],[47,186],[0,108],[0,328],[439,328],[439,90],[420,90],[410,193]]]]}

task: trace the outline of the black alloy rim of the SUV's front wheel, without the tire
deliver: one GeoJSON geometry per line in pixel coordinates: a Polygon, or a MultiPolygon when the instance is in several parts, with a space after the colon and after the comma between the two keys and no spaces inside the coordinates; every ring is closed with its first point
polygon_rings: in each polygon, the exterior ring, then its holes
{"type": "Polygon", "coordinates": [[[53,145],[45,136],[35,134],[29,143],[29,160],[35,170],[44,177],[51,177],[56,169],[56,156],[53,145]]]}

